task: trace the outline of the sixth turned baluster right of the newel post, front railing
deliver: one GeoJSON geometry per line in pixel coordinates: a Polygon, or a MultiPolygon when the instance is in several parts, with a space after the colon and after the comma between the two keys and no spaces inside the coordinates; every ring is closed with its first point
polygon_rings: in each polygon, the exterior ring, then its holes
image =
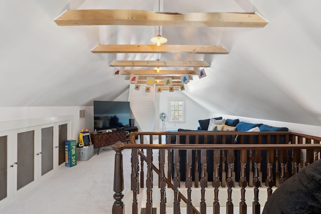
{"type": "Polygon", "coordinates": [[[206,149],[201,149],[201,202],[200,202],[200,213],[206,213],[206,203],[205,203],[205,187],[207,186],[207,179],[206,179],[206,149]]]}

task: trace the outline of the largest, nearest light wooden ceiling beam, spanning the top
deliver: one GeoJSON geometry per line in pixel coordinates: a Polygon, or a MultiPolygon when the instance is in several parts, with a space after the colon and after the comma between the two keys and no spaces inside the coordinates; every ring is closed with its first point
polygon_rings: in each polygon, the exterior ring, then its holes
{"type": "Polygon", "coordinates": [[[133,9],[66,10],[55,19],[59,26],[148,25],[194,27],[264,27],[268,22],[256,13],[170,13],[133,9]]]}

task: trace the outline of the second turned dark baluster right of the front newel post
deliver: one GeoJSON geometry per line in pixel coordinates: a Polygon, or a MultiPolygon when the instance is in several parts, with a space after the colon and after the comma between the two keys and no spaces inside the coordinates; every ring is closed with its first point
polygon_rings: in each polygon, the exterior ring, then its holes
{"type": "Polygon", "coordinates": [[[152,213],[152,173],[151,173],[151,149],[146,149],[147,154],[147,172],[146,172],[146,213],[152,213]]]}

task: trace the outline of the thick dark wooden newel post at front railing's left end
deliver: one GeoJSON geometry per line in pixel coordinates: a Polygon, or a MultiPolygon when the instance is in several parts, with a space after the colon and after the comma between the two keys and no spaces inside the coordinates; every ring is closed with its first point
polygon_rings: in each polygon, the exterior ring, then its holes
{"type": "Polygon", "coordinates": [[[124,190],[124,174],[123,174],[123,166],[122,166],[122,154],[121,151],[125,148],[124,144],[120,141],[111,145],[112,149],[116,151],[115,153],[115,168],[114,168],[114,204],[112,206],[113,214],[122,214],[124,208],[124,202],[122,198],[124,194],[122,191],[124,190]]]}

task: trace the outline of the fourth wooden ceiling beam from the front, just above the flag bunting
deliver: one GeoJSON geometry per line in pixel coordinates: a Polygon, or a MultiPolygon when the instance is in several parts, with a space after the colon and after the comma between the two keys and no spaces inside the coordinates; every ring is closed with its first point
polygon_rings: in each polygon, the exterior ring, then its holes
{"type": "Polygon", "coordinates": [[[168,75],[168,74],[177,74],[177,75],[197,75],[195,70],[122,70],[122,75],[136,74],[136,75],[168,75]]]}

